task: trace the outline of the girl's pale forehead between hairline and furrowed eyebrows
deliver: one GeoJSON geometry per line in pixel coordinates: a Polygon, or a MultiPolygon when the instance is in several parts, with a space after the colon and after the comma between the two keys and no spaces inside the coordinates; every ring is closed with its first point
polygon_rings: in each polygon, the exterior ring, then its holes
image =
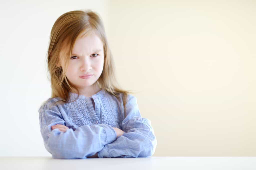
{"type": "Polygon", "coordinates": [[[100,37],[96,34],[87,35],[77,38],[74,43],[72,53],[90,54],[95,50],[103,50],[103,43],[100,37]]]}

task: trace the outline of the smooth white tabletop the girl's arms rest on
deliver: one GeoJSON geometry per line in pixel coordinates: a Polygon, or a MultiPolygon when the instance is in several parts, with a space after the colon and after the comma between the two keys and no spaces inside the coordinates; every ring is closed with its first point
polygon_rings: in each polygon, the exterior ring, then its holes
{"type": "Polygon", "coordinates": [[[52,157],[0,157],[0,169],[175,169],[255,170],[256,157],[171,157],[54,159],[52,157]]]}

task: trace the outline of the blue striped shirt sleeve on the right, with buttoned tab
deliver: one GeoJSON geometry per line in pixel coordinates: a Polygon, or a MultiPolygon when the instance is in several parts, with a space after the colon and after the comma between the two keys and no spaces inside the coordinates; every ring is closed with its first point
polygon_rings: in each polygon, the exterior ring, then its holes
{"type": "Polygon", "coordinates": [[[149,157],[154,154],[157,145],[154,130],[151,121],[141,117],[136,97],[129,95],[126,109],[123,135],[106,144],[98,157],[149,157]]]}

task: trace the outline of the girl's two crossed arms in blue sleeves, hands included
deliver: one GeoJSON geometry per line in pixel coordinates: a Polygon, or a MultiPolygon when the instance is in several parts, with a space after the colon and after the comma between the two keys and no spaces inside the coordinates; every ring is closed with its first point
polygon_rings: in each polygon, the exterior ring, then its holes
{"type": "Polygon", "coordinates": [[[48,105],[41,107],[39,109],[40,127],[47,151],[54,158],[66,159],[85,158],[96,149],[94,155],[90,154],[92,156],[87,157],[151,156],[157,145],[151,121],[141,117],[137,99],[134,96],[129,96],[126,108],[127,114],[121,125],[123,131],[104,123],[98,126],[84,125],[73,131],[65,126],[65,120],[57,108],[49,109],[48,105]],[[89,145],[91,139],[83,138],[87,135],[91,135],[92,140],[99,144],[91,147],[89,145]],[[67,140],[71,138],[72,140],[67,140]],[[78,140],[84,142],[81,143],[78,140]]]}

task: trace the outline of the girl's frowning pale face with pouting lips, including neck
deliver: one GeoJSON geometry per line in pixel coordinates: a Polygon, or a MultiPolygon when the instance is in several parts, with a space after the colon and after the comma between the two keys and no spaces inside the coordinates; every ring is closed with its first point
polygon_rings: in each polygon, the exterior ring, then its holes
{"type": "MultiPolygon", "coordinates": [[[[78,38],[70,56],[67,79],[73,83],[80,94],[89,95],[99,89],[94,84],[100,77],[104,64],[103,43],[96,34],[78,38]],[[89,78],[81,77],[90,74],[89,78]]],[[[61,62],[61,65],[63,63],[61,62]]],[[[63,67],[62,67],[63,68],[63,67]]]]}

